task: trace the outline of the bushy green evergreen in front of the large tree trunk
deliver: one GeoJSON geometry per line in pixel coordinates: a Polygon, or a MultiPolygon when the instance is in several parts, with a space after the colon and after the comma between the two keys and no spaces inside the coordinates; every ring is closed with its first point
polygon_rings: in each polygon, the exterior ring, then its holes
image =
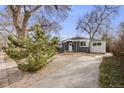
{"type": "Polygon", "coordinates": [[[51,37],[38,25],[32,27],[27,38],[9,36],[6,53],[22,71],[37,71],[45,66],[56,53],[57,37],[51,37]]]}

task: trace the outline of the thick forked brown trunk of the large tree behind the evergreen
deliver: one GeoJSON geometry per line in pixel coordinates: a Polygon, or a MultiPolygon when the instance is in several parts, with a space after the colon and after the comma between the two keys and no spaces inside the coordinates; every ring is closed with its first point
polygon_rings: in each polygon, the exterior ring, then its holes
{"type": "Polygon", "coordinates": [[[40,8],[41,6],[17,6],[10,5],[8,8],[10,9],[10,13],[13,20],[13,25],[16,29],[17,35],[19,37],[24,37],[26,34],[26,27],[28,24],[28,20],[31,15],[40,8]],[[22,23],[19,22],[19,17],[21,13],[24,13],[22,23]]]}

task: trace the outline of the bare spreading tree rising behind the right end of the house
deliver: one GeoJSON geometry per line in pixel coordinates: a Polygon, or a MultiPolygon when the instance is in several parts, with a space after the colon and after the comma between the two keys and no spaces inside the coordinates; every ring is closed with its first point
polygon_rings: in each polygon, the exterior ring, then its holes
{"type": "Polygon", "coordinates": [[[112,18],[118,14],[119,7],[94,6],[94,10],[86,13],[78,20],[76,29],[86,32],[91,42],[97,33],[103,32],[106,25],[109,26],[111,24],[112,18]]]}

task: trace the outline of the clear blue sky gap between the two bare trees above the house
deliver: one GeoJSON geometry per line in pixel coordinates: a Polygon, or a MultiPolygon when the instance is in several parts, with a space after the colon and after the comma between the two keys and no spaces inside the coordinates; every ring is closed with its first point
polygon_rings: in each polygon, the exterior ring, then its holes
{"type": "Polygon", "coordinates": [[[76,23],[79,17],[82,17],[86,12],[91,11],[92,6],[72,6],[72,9],[66,18],[66,20],[62,23],[63,29],[59,32],[61,39],[73,37],[80,35],[75,28],[76,23]]]}

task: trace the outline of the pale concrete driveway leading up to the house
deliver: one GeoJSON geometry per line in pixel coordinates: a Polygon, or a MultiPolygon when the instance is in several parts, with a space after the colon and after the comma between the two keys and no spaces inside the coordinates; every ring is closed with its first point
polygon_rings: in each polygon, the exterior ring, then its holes
{"type": "Polygon", "coordinates": [[[60,54],[57,62],[66,66],[40,80],[32,87],[37,88],[96,88],[98,87],[99,65],[103,55],[60,54]],[[64,58],[64,59],[63,59],[64,58]]]}

